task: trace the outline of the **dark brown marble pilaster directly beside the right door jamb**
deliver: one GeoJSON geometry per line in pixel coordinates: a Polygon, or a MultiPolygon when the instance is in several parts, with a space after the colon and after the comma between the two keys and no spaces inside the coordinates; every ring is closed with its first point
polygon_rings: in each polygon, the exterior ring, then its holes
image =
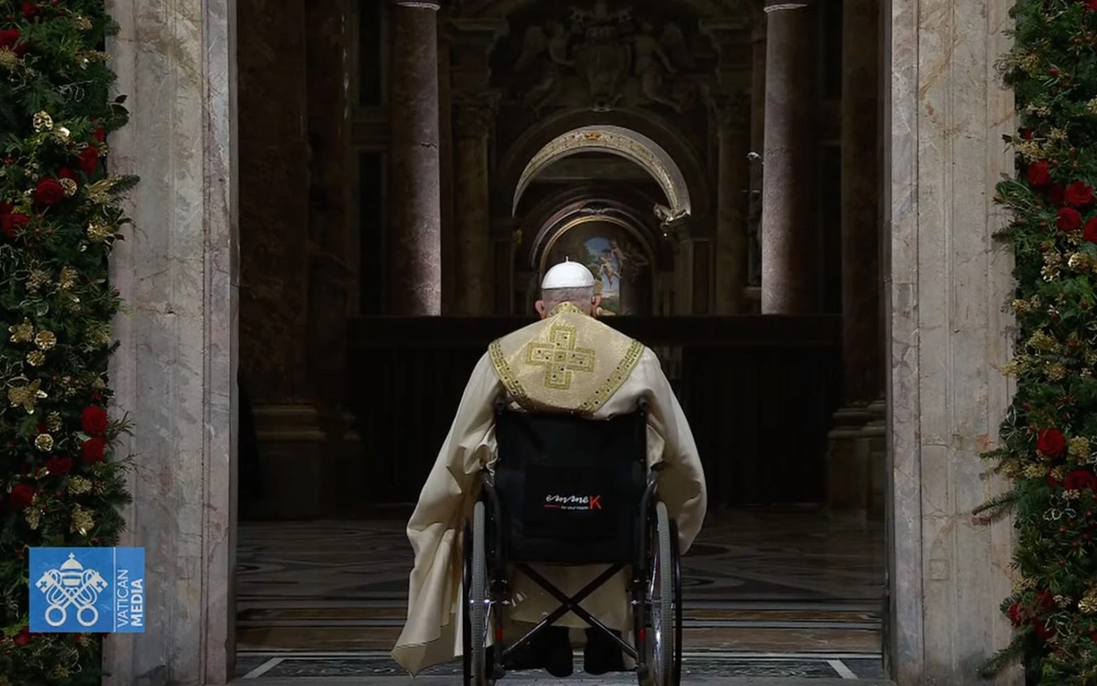
{"type": "Polygon", "coordinates": [[[841,45],[841,316],[846,403],[883,391],[880,349],[880,0],[845,0],[841,45]]]}

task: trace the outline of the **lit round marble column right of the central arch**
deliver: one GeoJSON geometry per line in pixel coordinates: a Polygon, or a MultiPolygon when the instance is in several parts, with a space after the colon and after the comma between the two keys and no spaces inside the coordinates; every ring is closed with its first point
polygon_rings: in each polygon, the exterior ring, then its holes
{"type": "Polygon", "coordinates": [[[766,3],[766,131],[761,312],[817,306],[815,11],[811,0],[766,3]]]}

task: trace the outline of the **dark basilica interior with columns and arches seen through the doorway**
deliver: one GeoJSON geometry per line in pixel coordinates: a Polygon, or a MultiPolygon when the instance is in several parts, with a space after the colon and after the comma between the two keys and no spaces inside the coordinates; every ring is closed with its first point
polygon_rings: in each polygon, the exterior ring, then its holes
{"type": "Polygon", "coordinates": [[[566,258],[704,463],[687,673],[882,678],[880,3],[238,0],[237,25],[238,676],[398,673],[411,505],[566,258]]]}

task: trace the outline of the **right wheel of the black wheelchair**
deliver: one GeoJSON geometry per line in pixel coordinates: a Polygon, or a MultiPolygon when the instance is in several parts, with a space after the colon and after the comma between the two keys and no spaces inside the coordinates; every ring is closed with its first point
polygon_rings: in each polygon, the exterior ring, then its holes
{"type": "MultiPolygon", "coordinates": [[[[672,538],[670,516],[664,503],[655,504],[655,538],[648,598],[651,599],[651,683],[652,686],[678,686],[675,662],[679,653],[676,625],[680,585],[676,584],[675,558],[678,541],[672,538]],[[676,588],[677,586],[677,588],[676,588]],[[679,593],[676,593],[676,589],[679,593]]],[[[679,667],[680,671],[680,667],[679,667]]]]}

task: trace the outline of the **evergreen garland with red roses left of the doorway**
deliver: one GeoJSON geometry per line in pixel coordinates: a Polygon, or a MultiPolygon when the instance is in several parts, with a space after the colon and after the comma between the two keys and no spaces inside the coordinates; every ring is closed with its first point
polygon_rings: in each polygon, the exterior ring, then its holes
{"type": "Polygon", "coordinates": [[[27,548],[112,546],[129,496],[106,413],[108,258],[126,223],[106,172],[125,124],[103,0],[0,0],[0,686],[98,684],[100,640],[30,633],[27,548]]]}

